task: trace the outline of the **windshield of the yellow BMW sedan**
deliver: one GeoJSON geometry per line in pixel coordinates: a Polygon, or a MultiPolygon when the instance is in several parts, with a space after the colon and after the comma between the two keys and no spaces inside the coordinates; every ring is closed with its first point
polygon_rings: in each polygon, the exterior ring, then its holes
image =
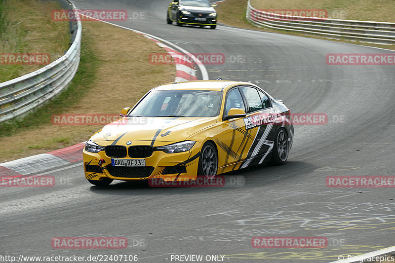
{"type": "Polygon", "coordinates": [[[129,114],[142,117],[213,117],[222,92],[205,90],[151,91],[129,114]]]}

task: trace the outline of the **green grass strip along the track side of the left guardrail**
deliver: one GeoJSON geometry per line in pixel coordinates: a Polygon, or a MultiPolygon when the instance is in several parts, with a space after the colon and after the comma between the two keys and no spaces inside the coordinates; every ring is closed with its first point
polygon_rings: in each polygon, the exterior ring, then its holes
{"type": "Polygon", "coordinates": [[[77,104],[92,86],[98,68],[98,59],[93,51],[94,41],[84,31],[81,42],[81,55],[79,68],[69,87],[62,91],[56,98],[50,100],[44,107],[29,113],[21,119],[14,119],[0,124],[0,137],[11,136],[17,132],[31,130],[41,124],[51,122],[52,114],[64,113],[77,104]]]}

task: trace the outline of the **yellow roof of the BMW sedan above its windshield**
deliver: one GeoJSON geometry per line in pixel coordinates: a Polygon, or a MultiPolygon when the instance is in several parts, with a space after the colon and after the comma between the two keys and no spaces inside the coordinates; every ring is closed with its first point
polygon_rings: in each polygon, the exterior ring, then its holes
{"type": "Polygon", "coordinates": [[[162,84],[153,90],[224,90],[225,88],[248,84],[248,82],[228,80],[195,80],[162,84]]]}

